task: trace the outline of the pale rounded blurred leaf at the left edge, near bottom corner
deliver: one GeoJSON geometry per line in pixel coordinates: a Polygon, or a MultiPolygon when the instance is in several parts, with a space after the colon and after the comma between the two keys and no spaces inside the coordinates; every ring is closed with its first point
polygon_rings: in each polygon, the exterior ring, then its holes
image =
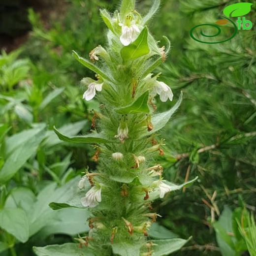
{"type": "Polygon", "coordinates": [[[0,227],[25,243],[29,239],[29,222],[26,213],[20,208],[0,210],[0,227]]]}

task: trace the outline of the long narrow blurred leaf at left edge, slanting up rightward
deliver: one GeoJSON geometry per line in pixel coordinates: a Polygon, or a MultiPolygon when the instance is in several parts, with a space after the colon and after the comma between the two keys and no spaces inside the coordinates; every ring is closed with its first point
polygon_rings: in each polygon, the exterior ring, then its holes
{"type": "MultiPolygon", "coordinates": [[[[13,152],[5,160],[0,170],[0,184],[5,183],[26,163],[26,161],[36,152],[39,144],[45,137],[45,129],[39,131],[30,140],[25,140],[23,144],[13,150],[13,152]]],[[[14,147],[16,142],[14,143],[14,147]]]]}

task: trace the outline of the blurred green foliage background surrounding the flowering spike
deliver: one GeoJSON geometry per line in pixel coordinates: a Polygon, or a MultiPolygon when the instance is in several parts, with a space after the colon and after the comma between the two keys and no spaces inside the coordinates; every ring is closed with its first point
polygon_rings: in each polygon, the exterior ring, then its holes
{"type": "MultiPolygon", "coordinates": [[[[164,176],[174,183],[199,176],[192,187],[154,204],[162,218],[151,236],[192,236],[177,256],[249,255],[248,213],[256,212],[256,5],[246,15],[253,29],[239,31],[230,41],[202,44],[189,35],[193,26],[216,22],[224,6],[236,2],[162,0],[150,24],[157,39],[165,35],[172,44],[156,72],[173,90],[174,101],[180,91],[184,94],[160,134],[165,139],[160,157],[164,176]]],[[[145,13],[151,4],[137,1],[138,11],[145,13]]],[[[1,256],[30,256],[33,245],[61,244],[88,231],[79,229],[78,221],[69,224],[73,214],[84,222],[80,213],[52,216],[42,199],[48,195],[41,191],[52,181],[61,191],[87,166],[96,166],[92,147],[65,144],[52,129],[55,125],[68,135],[90,130],[92,109],[99,106],[95,100],[82,100],[79,81],[94,74],[77,64],[71,51],[87,57],[103,45],[106,29],[99,9],[113,11],[118,5],[119,0],[0,2],[0,209],[16,198],[25,213],[29,207],[24,203],[30,200],[39,211],[30,216],[33,225],[24,243],[0,223],[1,256]],[[22,161],[7,177],[8,163],[15,157],[22,161]],[[61,228],[64,223],[69,225],[61,228]]],[[[172,105],[158,102],[158,110],[172,105]]]]}

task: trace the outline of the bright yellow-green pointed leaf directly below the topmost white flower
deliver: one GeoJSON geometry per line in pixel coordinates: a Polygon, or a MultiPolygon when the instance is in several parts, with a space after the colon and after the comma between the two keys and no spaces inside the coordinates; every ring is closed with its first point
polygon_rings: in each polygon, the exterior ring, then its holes
{"type": "Polygon", "coordinates": [[[133,43],[121,49],[121,56],[124,61],[133,61],[139,57],[147,55],[149,52],[148,29],[145,27],[133,43]]]}

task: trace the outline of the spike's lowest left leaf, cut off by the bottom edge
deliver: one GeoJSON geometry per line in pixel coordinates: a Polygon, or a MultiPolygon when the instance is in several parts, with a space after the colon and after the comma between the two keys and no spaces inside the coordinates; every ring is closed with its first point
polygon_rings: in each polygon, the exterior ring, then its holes
{"type": "Polygon", "coordinates": [[[37,256],[95,256],[90,248],[79,248],[75,243],[33,247],[33,251],[37,256]]]}

